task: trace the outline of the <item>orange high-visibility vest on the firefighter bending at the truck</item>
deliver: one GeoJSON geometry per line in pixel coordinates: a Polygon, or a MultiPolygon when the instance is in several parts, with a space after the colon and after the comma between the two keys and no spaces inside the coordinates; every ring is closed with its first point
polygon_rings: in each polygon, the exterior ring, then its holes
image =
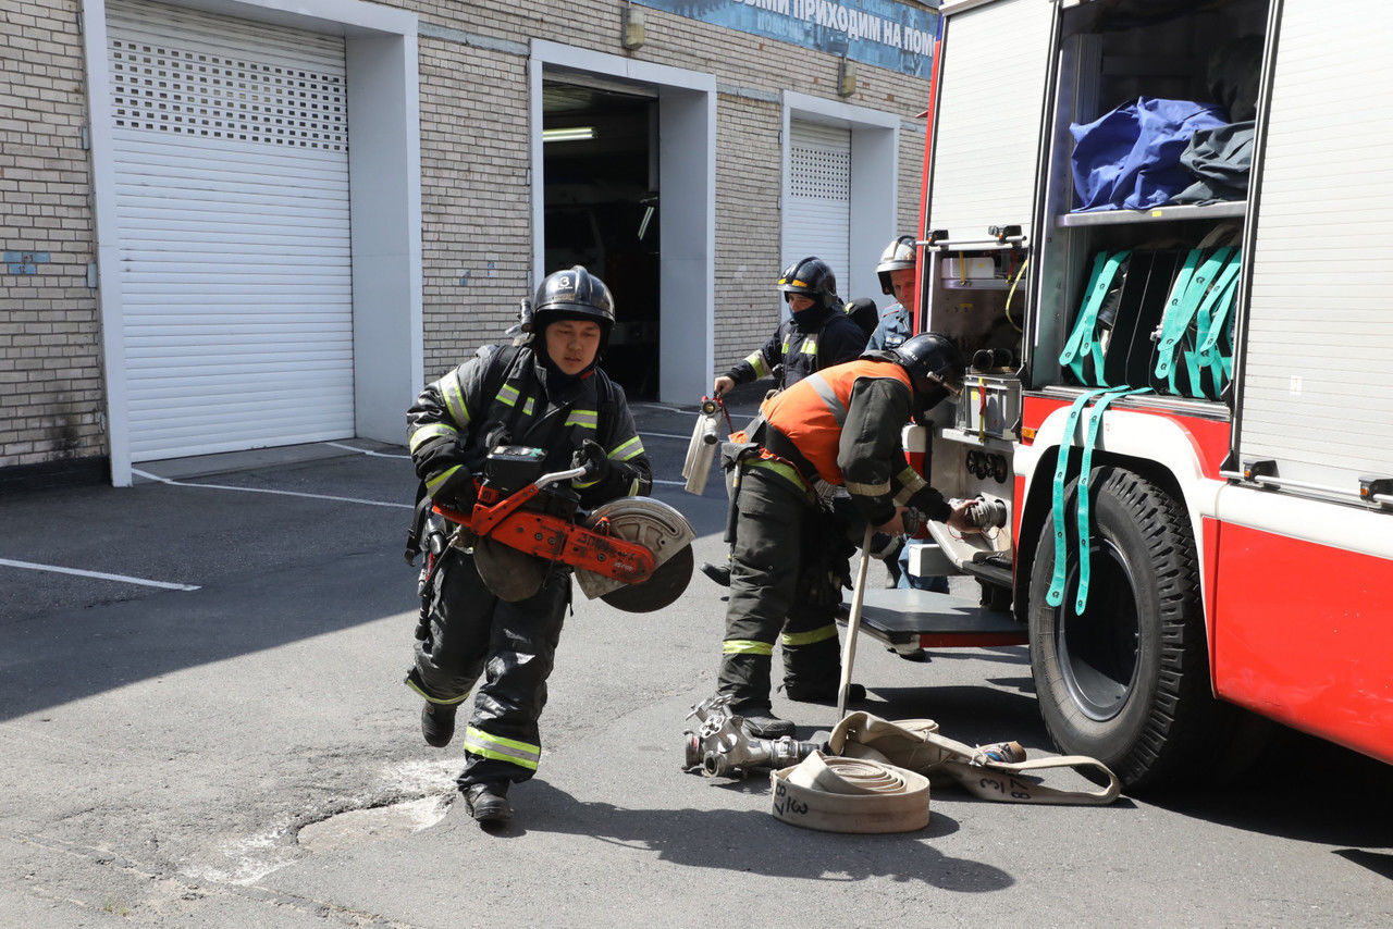
{"type": "MultiPolygon", "coordinates": [[[[837,467],[841,428],[847,422],[851,386],[859,377],[892,377],[911,394],[914,390],[910,375],[900,365],[861,358],[808,375],[759,407],[769,425],[783,433],[808,464],[818,469],[818,476],[837,486],[844,483],[841,468],[837,467]]],[[[903,425],[894,423],[894,429],[903,425]]]]}

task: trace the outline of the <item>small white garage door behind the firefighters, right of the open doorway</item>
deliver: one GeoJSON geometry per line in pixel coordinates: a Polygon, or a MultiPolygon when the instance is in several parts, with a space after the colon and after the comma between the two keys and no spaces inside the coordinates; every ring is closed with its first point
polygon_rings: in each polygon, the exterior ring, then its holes
{"type": "Polygon", "coordinates": [[[816,255],[846,291],[851,279],[851,130],[790,123],[788,136],[784,266],[816,255]]]}

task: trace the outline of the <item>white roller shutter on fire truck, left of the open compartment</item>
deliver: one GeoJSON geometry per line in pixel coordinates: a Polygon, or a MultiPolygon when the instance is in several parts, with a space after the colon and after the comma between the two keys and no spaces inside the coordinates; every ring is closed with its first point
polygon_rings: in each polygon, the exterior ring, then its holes
{"type": "Polygon", "coordinates": [[[944,10],[928,228],[1029,234],[1053,22],[1050,0],[944,10]]]}

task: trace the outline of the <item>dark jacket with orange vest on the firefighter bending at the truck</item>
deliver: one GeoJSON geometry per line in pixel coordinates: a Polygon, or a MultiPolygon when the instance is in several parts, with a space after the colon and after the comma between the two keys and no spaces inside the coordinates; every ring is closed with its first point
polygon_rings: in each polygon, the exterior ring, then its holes
{"type": "Polygon", "coordinates": [[[761,414],[773,435],[762,444],[800,471],[816,472],[805,478],[846,486],[871,525],[886,522],[900,506],[942,522],[951,508],[910,467],[900,443],[912,408],[904,369],[862,358],[818,372],[766,400],[761,414]]]}

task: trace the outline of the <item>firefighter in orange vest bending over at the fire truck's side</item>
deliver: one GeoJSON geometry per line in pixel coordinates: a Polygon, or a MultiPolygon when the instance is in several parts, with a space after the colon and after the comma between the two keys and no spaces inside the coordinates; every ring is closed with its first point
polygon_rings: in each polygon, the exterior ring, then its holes
{"type": "MultiPolygon", "coordinates": [[[[826,680],[836,691],[840,650],[833,613],[800,611],[798,581],[809,557],[807,526],[819,518],[819,485],[844,486],[876,532],[904,533],[904,508],[972,532],[971,503],[950,507],[905,464],[900,432],[957,393],[963,364],[936,333],[827,368],[766,400],[741,448],[737,522],[722,645],[719,694],[756,738],[791,735],[769,699],[775,641],[786,682],[826,680]],[[781,631],[781,637],[780,637],[781,631]]],[[[815,554],[814,554],[815,557],[815,554]]]]}

